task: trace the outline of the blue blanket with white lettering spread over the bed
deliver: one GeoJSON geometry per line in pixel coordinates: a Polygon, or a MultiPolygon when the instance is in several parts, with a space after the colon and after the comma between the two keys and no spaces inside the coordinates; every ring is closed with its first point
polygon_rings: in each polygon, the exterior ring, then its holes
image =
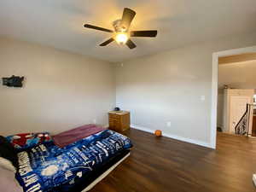
{"type": "Polygon", "coordinates": [[[41,144],[18,153],[16,178],[26,192],[55,192],[62,184],[72,189],[86,173],[131,147],[129,138],[109,130],[65,148],[58,148],[54,143],[41,144]]]}

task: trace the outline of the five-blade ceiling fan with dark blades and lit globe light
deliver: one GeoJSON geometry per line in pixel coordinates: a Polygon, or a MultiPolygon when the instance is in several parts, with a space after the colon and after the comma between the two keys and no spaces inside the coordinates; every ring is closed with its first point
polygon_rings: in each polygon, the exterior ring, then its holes
{"type": "Polygon", "coordinates": [[[100,44],[100,46],[106,46],[113,41],[118,44],[126,44],[130,49],[136,48],[136,44],[131,41],[131,37],[143,37],[143,38],[155,38],[157,35],[156,30],[150,31],[130,31],[131,21],[135,17],[136,12],[134,10],[125,8],[123,12],[122,19],[113,21],[113,30],[102,28],[100,26],[92,26],[90,24],[85,24],[84,27],[99,30],[102,32],[111,32],[113,37],[109,38],[107,41],[100,44]]]}

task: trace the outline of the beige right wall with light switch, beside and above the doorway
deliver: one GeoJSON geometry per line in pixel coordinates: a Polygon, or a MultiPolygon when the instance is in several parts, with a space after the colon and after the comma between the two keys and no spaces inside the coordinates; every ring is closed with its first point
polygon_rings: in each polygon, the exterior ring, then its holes
{"type": "Polygon", "coordinates": [[[126,61],[116,67],[117,106],[131,123],[171,137],[208,144],[212,53],[256,45],[256,34],[228,37],[126,61]],[[205,96],[205,101],[201,101],[205,96]],[[171,126],[166,122],[170,121],[171,126]]]}

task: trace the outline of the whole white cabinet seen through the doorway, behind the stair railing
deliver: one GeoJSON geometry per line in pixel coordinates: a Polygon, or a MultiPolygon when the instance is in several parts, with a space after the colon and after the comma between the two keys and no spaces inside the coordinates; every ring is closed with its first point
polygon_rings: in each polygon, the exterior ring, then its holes
{"type": "MultiPolygon", "coordinates": [[[[224,90],[224,131],[235,133],[235,127],[246,112],[247,103],[253,104],[254,90],[224,90]]],[[[252,113],[252,112],[251,112],[252,113]]],[[[253,115],[250,115],[249,132],[252,130],[253,115]]]]}

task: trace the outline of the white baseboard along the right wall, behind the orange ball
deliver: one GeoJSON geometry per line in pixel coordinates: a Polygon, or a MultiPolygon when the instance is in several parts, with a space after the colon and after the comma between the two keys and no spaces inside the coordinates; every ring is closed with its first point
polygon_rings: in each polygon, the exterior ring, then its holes
{"type": "MultiPolygon", "coordinates": [[[[131,128],[134,128],[134,129],[137,129],[137,130],[141,130],[141,131],[146,131],[146,132],[154,134],[154,130],[148,129],[146,127],[137,126],[137,125],[131,125],[131,128]]],[[[179,141],[186,142],[186,143],[193,143],[193,144],[200,145],[200,146],[203,146],[203,147],[206,147],[206,148],[212,148],[211,143],[204,143],[204,142],[201,142],[201,141],[198,141],[198,140],[194,140],[194,139],[190,139],[190,138],[185,138],[185,137],[179,137],[179,136],[175,136],[175,135],[168,134],[168,133],[165,133],[165,132],[163,132],[162,134],[163,134],[164,137],[169,137],[169,138],[172,138],[172,139],[177,139],[179,141]]]]}

